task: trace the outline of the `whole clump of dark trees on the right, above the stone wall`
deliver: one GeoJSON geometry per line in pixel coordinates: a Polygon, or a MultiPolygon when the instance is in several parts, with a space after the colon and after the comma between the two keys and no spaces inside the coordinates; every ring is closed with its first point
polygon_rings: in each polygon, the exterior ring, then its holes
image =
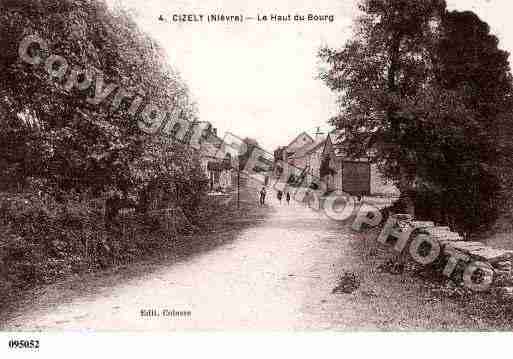
{"type": "Polygon", "coordinates": [[[321,78],[340,95],[332,123],[350,133],[350,153],[370,150],[398,184],[408,212],[415,211],[414,185],[420,184],[450,194],[446,207],[472,204],[470,221],[458,216],[469,229],[469,222],[480,222],[480,204],[496,192],[479,185],[485,177],[494,182],[485,170],[495,153],[489,124],[509,111],[507,54],[477,17],[449,13],[443,1],[365,0],[360,9],[353,39],[342,50],[320,53],[329,66],[321,78]],[[467,30],[467,43],[457,27],[469,21],[478,28],[467,30]],[[493,62],[494,80],[485,83],[478,73],[486,61],[493,62]],[[461,64],[474,71],[461,71],[461,64]],[[487,104],[479,100],[485,98],[487,104]]]}

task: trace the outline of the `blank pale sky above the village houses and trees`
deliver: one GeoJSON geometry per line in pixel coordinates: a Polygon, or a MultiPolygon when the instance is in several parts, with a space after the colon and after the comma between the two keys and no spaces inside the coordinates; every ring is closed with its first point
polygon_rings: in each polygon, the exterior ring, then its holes
{"type": "MultiPolygon", "coordinates": [[[[323,44],[342,46],[350,35],[356,2],[350,0],[111,0],[136,9],[136,20],[166,49],[171,65],[191,89],[200,120],[218,132],[253,137],[273,151],[301,131],[324,130],[336,112],[335,97],[316,79],[323,44]],[[335,15],[335,21],[303,23],[164,23],[159,15],[335,15]]],[[[422,0],[419,0],[422,1],[422,0]]],[[[510,0],[447,0],[472,10],[513,50],[510,0]]]]}

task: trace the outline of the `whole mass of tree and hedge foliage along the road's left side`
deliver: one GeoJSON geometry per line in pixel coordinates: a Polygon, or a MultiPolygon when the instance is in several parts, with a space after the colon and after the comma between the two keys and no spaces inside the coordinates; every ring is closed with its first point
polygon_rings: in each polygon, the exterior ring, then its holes
{"type": "Polygon", "coordinates": [[[0,285],[128,262],[201,225],[197,154],[140,129],[149,103],[189,122],[195,106],[164,51],[125,10],[104,0],[0,1],[0,48],[0,285]],[[43,60],[69,62],[64,77],[20,59],[28,35],[47,42],[43,60]],[[116,92],[92,105],[95,82],[65,89],[76,67],[116,91],[143,94],[139,110],[128,100],[116,106],[116,92]],[[125,218],[127,207],[135,212],[125,218]]]}

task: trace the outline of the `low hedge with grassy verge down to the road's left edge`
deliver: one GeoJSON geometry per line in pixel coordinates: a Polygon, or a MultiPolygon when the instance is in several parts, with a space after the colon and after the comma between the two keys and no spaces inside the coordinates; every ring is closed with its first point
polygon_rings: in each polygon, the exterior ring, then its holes
{"type": "Polygon", "coordinates": [[[17,307],[23,301],[19,298],[36,300],[35,290],[54,283],[75,282],[84,276],[94,281],[120,268],[130,273],[130,268],[141,263],[186,258],[222,245],[250,225],[252,218],[267,215],[267,208],[251,200],[252,192],[251,188],[242,190],[240,208],[233,198],[206,198],[192,226],[179,216],[166,219],[172,220],[172,230],[160,217],[127,217],[120,221],[122,230],[109,232],[94,211],[73,215],[69,209],[58,208],[51,212],[48,203],[18,199],[14,204],[19,213],[12,214],[13,203],[2,212],[0,310],[6,313],[17,307]],[[241,218],[248,221],[238,221],[241,218]]]}

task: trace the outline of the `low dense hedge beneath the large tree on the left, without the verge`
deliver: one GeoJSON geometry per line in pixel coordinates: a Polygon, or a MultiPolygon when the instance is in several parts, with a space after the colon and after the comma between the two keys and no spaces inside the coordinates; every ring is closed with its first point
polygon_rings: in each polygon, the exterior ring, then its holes
{"type": "Polygon", "coordinates": [[[38,193],[0,193],[0,299],[9,290],[172,251],[224,209],[206,197],[196,224],[175,206],[173,212],[121,215],[119,226],[107,231],[103,203],[78,195],[59,203],[38,193]]]}

